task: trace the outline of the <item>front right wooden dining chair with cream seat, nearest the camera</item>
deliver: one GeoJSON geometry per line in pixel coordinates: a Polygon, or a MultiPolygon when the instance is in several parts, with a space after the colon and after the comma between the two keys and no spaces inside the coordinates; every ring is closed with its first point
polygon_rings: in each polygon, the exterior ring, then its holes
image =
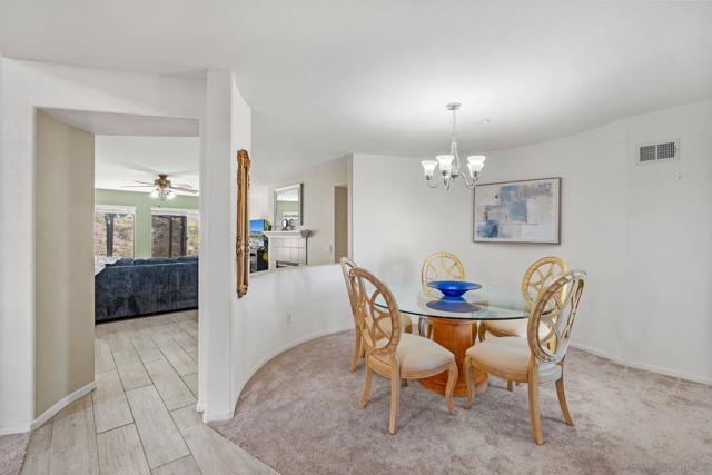
{"type": "Polygon", "coordinates": [[[527,384],[532,433],[537,444],[544,443],[538,412],[541,384],[556,384],[561,412],[566,424],[573,427],[564,390],[564,359],[585,278],[585,273],[571,270],[540,294],[530,313],[526,339],[517,336],[490,338],[467,349],[463,364],[467,384],[465,408],[468,409],[473,404],[473,370],[477,368],[507,380],[527,384]]]}

